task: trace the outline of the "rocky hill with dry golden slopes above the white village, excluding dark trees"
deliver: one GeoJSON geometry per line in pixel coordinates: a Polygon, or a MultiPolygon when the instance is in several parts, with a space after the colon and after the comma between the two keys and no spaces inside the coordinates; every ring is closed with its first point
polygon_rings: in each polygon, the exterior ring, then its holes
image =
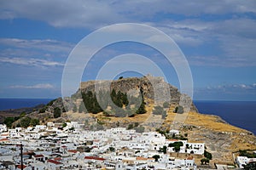
{"type": "MultiPolygon", "coordinates": [[[[48,105],[44,105],[43,108],[40,107],[38,111],[32,111],[26,116],[36,118],[40,120],[40,123],[79,121],[84,123],[85,128],[90,129],[104,127],[133,127],[138,129],[143,127],[143,130],[149,131],[156,128],[160,130],[178,128],[182,135],[186,135],[190,141],[205,142],[207,150],[212,153],[214,160],[212,162],[232,164],[232,153],[238,150],[256,150],[256,137],[253,133],[234,127],[218,116],[200,114],[194,104],[191,105],[188,113],[183,113],[187,114],[185,115],[185,121],[177,126],[177,123],[174,122],[175,117],[183,115],[175,113],[177,106],[180,105],[181,95],[183,94],[180,94],[177,88],[165,82],[162,77],[131,77],[113,82],[81,82],[78,92],[73,94],[72,97],[64,100],[61,98],[55,99],[49,102],[48,105]],[[79,105],[83,101],[81,94],[88,92],[95,94],[96,90],[111,92],[113,89],[127,95],[141,93],[146,104],[146,113],[119,117],[109,115],[104,111],[97,114],[79,112],[79,105]],[[157,91],[157,89],[161,90],[157,91]],[[169,94],[171,95],[171,101],[168,100],[169,94]],[[168,106],[163,107],[166,115],[153,114],[155,106],[163,106],[166,101],[168,101],[168,106]]],[[[125,108],[125,105],[123,108],[125,108]]],[[[108,107],[108,110],[111,111],[111,108],[108,107]]],[[[14,122],[13,125],[17,126],[19,123],[20,120],[14,122]]]]}

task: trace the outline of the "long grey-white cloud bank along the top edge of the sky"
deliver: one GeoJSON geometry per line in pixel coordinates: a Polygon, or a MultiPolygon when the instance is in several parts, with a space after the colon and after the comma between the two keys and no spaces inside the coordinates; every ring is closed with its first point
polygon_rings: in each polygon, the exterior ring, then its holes
{"type": "Polygon", "coordinates": [[[163,14],[159,20],[165,20],[165,14],[243,14],[255,13],[253,0],[223,1],[1,1],[0,19],[28,18],[43,20],[51,26],[96,28],[117,22],[150,20],[157,14],[163,14]],[[38,10],[40,9],[40,10],[38,10]]]}

